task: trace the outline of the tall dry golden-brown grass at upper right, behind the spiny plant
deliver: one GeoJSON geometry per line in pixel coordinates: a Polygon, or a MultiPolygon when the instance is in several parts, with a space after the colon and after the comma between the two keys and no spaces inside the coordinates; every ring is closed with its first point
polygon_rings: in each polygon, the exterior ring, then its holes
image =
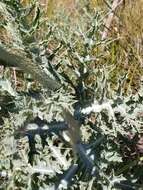
{"type": "Polygon", "coordinates": [[[118,9],[110,30],[110,37],[119,38],[112,44],[109,62],[116,64],[112,81],[127,75],[125,94],[136,93],[143,75],[143,0],[127,0],[118,9]]]}

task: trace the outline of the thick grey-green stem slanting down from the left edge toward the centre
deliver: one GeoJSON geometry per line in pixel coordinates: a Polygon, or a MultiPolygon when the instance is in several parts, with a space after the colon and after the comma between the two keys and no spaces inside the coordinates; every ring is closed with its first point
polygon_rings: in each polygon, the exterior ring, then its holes
{"type": "Polygon", "coordinates": [[[0,64],[8,67],[18,67],[23,72],[31,74],[33,79],[37,80],[44,88],[49,90],[57,90],[61,84],[50,78],[41,68],[23,54],[14,54],[0,47],[0,64]]]}

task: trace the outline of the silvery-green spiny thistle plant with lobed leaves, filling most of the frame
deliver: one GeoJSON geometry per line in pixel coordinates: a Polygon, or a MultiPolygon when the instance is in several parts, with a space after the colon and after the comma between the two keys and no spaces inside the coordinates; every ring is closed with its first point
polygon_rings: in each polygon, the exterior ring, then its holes
{"type": "Polygon", "coordinates": [[[124,69],[122,39],[102,37],[109,10],[87,2],[73,20],[0,2],[1,189],[143,187],[142,71],[124,69]]]}

